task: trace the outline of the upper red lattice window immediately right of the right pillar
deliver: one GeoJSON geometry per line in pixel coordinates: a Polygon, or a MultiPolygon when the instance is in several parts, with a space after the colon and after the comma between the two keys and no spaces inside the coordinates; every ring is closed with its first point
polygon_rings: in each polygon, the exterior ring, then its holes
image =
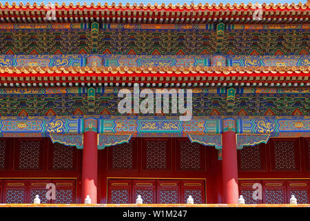
{"type": "Polygon", "coordinates": [[[239,171],[265,171],[265,144],[245,146],[238,151],[239,171]]]}

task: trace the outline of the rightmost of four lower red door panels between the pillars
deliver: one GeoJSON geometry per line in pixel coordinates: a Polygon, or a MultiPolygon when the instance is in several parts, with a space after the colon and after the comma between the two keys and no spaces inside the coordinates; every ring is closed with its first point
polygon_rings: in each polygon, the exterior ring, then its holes
{"type": "Polygon", "coordinates": [[[194,204],[205,203],[205,182],[203,180],[182,180],[180,203],[186,204],[189,195],[192,195],[194,204]]]}

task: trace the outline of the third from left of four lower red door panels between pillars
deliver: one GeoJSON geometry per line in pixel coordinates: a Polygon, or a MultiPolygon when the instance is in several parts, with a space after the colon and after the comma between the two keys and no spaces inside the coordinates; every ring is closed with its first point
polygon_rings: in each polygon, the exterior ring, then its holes
{"type": "Polygon", "coordinates": [[[158,203],[180,203],[180,182],[174,180],[158,180],[158,203]]]}

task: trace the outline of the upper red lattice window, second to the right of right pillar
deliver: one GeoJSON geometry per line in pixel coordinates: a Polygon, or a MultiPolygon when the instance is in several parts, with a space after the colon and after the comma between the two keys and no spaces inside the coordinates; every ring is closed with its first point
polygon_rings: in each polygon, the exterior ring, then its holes
{"type": "Polygon", "coordinates": [[[296,171],[296,148],[293,141],[276,141],[274,144],[274,161],[276,171],[296,171]]]}

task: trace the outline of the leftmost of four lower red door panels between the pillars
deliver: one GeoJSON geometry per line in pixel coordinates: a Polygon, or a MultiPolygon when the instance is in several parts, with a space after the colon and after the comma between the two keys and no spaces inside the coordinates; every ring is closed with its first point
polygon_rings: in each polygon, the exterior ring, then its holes
{"type": "Polygon", "coordinates": [[[132,180],[109,180],[108,203],[132,203],[132,180]]]}

